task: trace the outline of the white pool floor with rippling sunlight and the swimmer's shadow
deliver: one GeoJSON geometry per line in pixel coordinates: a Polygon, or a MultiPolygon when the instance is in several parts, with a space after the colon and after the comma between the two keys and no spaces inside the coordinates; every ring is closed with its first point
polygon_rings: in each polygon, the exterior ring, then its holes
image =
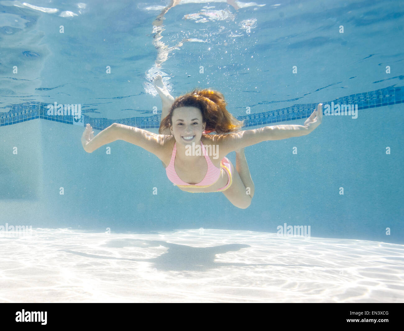
{"type": "Polygon", "coordinates": [[[0,302],[404,302],[404,245],[384,242],[35,229],[0,249],[0,302]]]}

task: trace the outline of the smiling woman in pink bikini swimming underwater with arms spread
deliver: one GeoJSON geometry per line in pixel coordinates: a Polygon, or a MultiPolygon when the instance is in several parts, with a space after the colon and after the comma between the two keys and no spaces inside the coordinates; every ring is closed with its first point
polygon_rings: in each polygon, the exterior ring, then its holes
{"type": "Polygon", "coordinates": [[[320,103],[304,125],[265,126],[241,131],[242,122],[226,110],[220,92],[196,89],[174,99],[160,75],[154,79],[154,86],[162,99],[160,134],[113,123],[94,137],[93,128],[87,124],[81,138],[84,150],[92,153],[119,139],[133,143],[156,155],[166,168],[168,179],[181,190],[223,192],[234,206],[242,209],[251,204],[254,196],[244,148],[261,141],[307,135],[322,121],[320,103]],[[216,134],[206,134],[213,131],[216,134]],[[236,152],[236,171],[226,158],[233,151],[236,152]]]}

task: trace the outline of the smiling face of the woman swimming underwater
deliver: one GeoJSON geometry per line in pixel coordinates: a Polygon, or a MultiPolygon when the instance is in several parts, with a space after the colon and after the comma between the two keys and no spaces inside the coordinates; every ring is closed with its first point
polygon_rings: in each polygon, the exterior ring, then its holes
{"type": "Polygon", "coordinates": [[[173,110],[170,126],[171,134],[177,143],[188,145],[200,141],[206,123],[202,122],[202,112],[195,107],[180,107],[173,110]]]}

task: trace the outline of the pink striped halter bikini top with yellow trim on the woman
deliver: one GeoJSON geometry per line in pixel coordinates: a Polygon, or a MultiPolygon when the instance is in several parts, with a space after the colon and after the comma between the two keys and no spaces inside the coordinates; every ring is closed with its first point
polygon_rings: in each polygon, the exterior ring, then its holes
{"type": "Polygon", "coordinates": [[[173,154],[171,155],[170,164],[168,164],[168,167],[166,168],[167,177],[168,179],[170,179],[171,182],[180,187],[195,187],[195,186],[208,187],[213,185],[219,180],[221,169],[215,167],[215,165],[212,163],[202,141],[201,141],[201,147],[206,159],[206,163],[208,164],[208,171],[206,171],[205,178],[202,179],[202,181],[200,181],[199,183],[189,184],[185,183],[185,181],[183,181],[180,177],[178,177],[177,172],[175,171],[174,168],[175,154],[177,154],[177,143],[174,143],[173,154]]]}

